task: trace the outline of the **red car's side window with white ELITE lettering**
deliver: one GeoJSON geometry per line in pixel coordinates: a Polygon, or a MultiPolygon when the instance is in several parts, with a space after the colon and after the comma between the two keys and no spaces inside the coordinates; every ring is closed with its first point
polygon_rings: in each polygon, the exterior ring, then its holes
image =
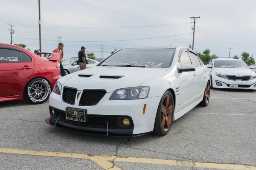
{"type": "Polygon", "coordinates": [[[20,51],[0,48],[0,63],[20,62],[20,51]]]}

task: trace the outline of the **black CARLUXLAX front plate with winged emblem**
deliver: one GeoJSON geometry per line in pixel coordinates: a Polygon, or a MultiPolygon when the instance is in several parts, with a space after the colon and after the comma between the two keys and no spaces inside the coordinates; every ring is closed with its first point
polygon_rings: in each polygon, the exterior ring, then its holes
{"type": "Polygon", "coordinates": [[[84,109],[66,108],[66,119],[76,122],[85,122],[84,109]]]}

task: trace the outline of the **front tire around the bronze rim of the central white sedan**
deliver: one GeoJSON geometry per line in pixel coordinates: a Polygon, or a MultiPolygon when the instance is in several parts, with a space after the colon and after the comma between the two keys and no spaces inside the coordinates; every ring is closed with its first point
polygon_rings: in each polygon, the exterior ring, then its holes
{"type": "Polygon", "coordinates": [[[156,114],[156,118],[155,118],[155,122],[154,122],[154,130],[153,130],[152,134],[157,135],[157,136],[165,136],[169,132],[169,130],[172,126],[173,112],[174,112],[173,96],[172,96],[172,93],[170,91],[166,91],[163,94],[163,96],[162,96],[162,98],[159,102],[159,106],[158,106],[158,109],[157,109],[157,114],[156,114]],[[168,96],[169,96],[169,101],[172,100],[172,102],[170,102],[171,104],[168,104],[168,106],[165,107],[166,104],[164,102],[166,102],[165,99],[167,99],[168,96]],[[163,110],[162,110],[163,108],[162,107],[167,108],[165,110],[165,113],[163,113],[163,110]],[[167,113],[168,115],[166,115],[166,112],[167,112],[168,108],[170,109],[169,111],[172,112],[172,113],[169,113],[170,115],[168,113],[167,113]],[[168,118],[168,120],[170,122],[169,128],[167,126],[166,117],[168,118]],[[167,127],[167,129],[166,128],[163,129],[163,127],[161,125],[162,120],[164,121],[164,127],[167,127]]]}

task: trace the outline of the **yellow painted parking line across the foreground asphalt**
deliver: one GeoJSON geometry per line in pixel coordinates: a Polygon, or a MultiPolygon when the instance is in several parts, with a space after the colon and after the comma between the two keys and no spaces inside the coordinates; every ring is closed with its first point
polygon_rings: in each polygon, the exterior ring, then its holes
{"type": "Polygon", "coordinates": [[[116,157],[116,156],[103,156],[103,155],[88,156],[87,154],[84,154],[84,153],[64,153],[64,152],[23,150],[23,149],[10,149],[10,148],[0,148],[0,153],[90,159],[91,161],[95,162],[105,170],[106,169],[122,170],[116,165],[113,166],[111,161],[137,162],[137,163],[147,163],[147,164],[165,164],[165,165],[173,165],[173,166],[201,167],[201,168],[225,169],[225,170],[256,170],[256,166],[253,166],[253,165],[249,166],[249,165],[238,165],[238,164],[203,163],[203,162],[193,162],[193,161],[175,161],[175,160],[166,160],[166,159],[134,158],[134,157],[122,158],[122,157],[116,157]]]}

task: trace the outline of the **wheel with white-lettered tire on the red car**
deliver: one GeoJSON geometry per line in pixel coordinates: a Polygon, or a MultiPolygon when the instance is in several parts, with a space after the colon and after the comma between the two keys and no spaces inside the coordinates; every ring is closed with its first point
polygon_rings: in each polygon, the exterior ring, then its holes
{"type": "Polygon", "coordinates": [[[35,78],[26,85],[24,99],[34,105],[41,104],[49,99],[51,92],[51,85],[46,79],[35,78]]]}

